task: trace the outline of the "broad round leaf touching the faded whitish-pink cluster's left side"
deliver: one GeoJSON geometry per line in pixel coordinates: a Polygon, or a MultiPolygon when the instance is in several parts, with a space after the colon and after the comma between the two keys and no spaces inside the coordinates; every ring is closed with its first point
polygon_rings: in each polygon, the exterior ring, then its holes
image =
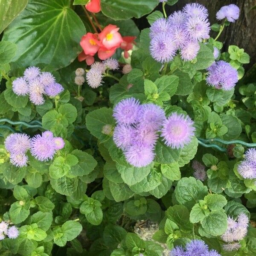
{"type": "Polygon", "coordinates": [[[201,225],[210,235],[221,236],[227,230],[227,215],[224,210],[210,212],[201,225]]]}

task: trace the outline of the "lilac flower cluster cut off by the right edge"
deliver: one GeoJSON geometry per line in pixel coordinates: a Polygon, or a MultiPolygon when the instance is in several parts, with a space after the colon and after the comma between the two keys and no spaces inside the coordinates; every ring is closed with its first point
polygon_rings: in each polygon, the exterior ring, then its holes
{"type": "Polygon", "coordinates": [[[237,170],[245,179],[256,178],[256,148],[249,148],[245,152],[245,158],[241,161],[237,170]]]}

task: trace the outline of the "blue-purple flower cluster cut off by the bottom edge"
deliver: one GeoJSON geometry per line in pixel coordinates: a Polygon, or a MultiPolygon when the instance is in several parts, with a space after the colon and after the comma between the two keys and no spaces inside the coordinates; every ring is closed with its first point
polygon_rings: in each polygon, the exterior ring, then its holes
{"type": "Polygon", "coordinates": [[[202,240],[192,240],[186,247],[176,246],[171,250],[170,256],[221,256],[216,250],[209,250],[202,240]]]}

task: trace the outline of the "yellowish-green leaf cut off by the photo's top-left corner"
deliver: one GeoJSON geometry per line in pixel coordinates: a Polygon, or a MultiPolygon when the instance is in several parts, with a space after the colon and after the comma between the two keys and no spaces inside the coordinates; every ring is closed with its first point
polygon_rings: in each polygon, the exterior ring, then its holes
{"type": "Polygon", "coordinates": [[[26,7],[28,0],[0,0],[0,34],[14,20],[14,18],[26,7]]]}

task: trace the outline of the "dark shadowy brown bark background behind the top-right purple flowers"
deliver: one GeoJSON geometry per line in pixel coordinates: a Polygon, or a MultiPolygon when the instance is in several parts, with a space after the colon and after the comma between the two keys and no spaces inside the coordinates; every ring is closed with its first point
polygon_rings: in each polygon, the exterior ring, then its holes
{"type": "MultiPolygon", "coordinates": [[[[150,0],[149,0],[150,1],[150,0]]],[[[170,15],[172,12],[181,10],[187,3],[201,3],[209,11],[209,20],[211,25],[218,22],[216,20],[216,12],[225,5],[231,3],[239,6],[240,16],[235,23],[231,23],[222,32],[218,41],[224,43],[222,51],[227,51],[229,45],[237,45],[239,48],[244,48],[244,51],[250,55],[250,64],[245,65],[248,70],[253,64],[256,63],[256,0],[179,0],[174,6],[166,5],[166,13],[170,15]]],[[[157,7],[162,10],[162,5],[157,7]]],[[[139,29],[148,27],[148,22],[145,17],[140,20],[135,20],[139,29]]],[[[217,35],[216,32],[211,32],[212,37],[217,35]]]]}

